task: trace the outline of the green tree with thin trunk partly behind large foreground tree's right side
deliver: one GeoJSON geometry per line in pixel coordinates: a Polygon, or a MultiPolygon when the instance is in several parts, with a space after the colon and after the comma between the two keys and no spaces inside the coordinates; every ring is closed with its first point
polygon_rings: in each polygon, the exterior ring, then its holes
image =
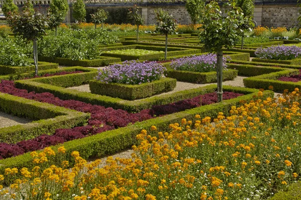
{"type": "Polygon", "coordinates": [[[253,21],[253,15],[254,15],[254,0],[238,0],[237,7],[241,8],[243,14],[244,14],[244,23],[242,23],[239,28],[243,30],[241,35],[241,49],[243,49],[243,38],[245,31],[250,30],[251,27],[254,26],[252,23],[253,21]]]}

